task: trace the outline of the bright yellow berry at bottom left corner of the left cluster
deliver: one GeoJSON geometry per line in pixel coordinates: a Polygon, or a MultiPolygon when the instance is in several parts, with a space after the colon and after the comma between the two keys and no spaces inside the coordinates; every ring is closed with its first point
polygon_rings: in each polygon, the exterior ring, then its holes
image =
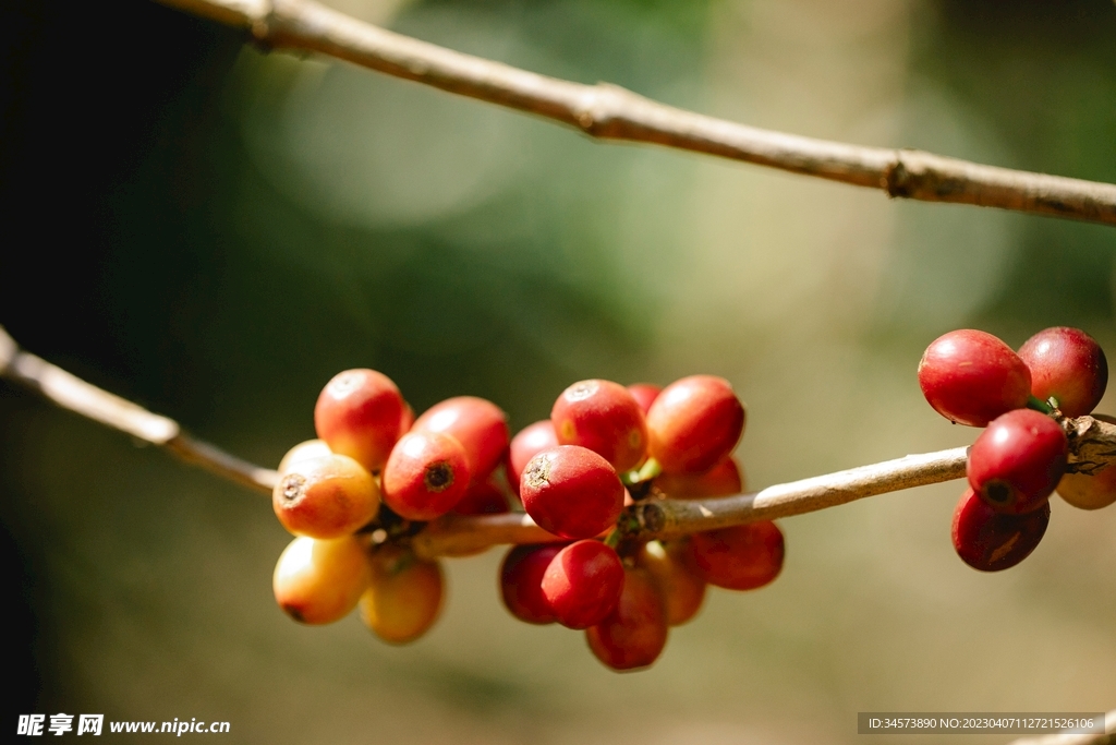
{"type": "Polygon", "coordinates": [[[276,602],[300,623],[333,623],[356,608],[368,585],[368,556],[354,536],[320,541],[298,537],[276,563],[276,602]]]}

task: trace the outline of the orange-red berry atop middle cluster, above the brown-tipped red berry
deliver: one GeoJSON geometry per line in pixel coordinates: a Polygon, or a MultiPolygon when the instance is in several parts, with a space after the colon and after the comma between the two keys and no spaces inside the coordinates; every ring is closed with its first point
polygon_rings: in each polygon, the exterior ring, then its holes
{"type": "Polygon", "coordinates": [[[617,471],[635,468],[647,453],[647,424],[638,402],[619,383],[584,380],[558,397],[550,421],[560,445],[593,450],[617,471]]]}

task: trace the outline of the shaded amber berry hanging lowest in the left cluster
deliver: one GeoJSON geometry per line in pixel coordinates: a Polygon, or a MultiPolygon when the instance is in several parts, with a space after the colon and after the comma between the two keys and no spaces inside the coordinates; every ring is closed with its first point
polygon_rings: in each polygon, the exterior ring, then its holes
{"type": "Polygon", "coordinates": [[[368,589],[359,600],[360,621],[384,641],[414,641],[437,620],[444,586],[439,562],[385,544],[372,556],[368,589]]]}

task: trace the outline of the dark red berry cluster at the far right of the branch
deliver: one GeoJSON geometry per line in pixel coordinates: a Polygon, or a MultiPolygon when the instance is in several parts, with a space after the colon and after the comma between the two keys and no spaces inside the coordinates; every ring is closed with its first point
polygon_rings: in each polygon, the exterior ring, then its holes
{"type": "Polygon", "coordinates": [[[981,331],[950,332],[926,348],[918,383],[940,414],[985,428],[953,514],[953,546],[970,566],[994,572],[1026,558],[1046,533],[1056,489],[1084,509],[1116,502],[1116,469],[1067,472],[1068,419],[1090,413],[1108,383],[1105,354],[1085,332],[1047,328],[1018,354],[981,331]]]}

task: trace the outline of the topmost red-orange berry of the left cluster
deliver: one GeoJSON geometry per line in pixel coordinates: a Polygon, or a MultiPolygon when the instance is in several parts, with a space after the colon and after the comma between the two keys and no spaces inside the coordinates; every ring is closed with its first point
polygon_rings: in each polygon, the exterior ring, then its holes
{"type": "Polygon", "coordinates": [[[314,407],[314,428],[329,449],[378,471],[400,437],[403,397],[375,370],[346,370],[326,383],[314,407]]]}

